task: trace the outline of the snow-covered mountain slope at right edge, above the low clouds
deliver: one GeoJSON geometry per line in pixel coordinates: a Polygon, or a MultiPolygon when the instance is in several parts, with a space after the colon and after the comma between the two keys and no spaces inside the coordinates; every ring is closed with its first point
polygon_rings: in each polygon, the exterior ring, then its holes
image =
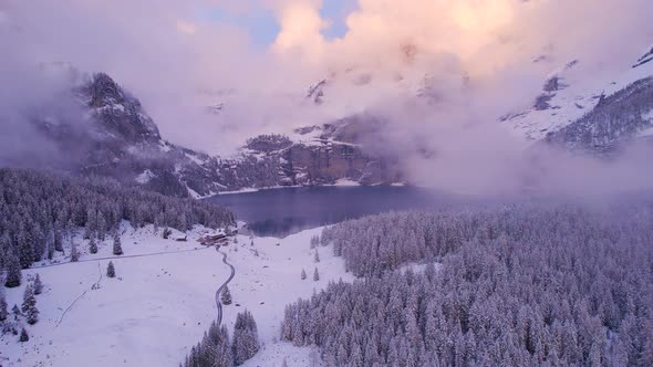
{"type": "Polygon", "coordinates": [[[614,75],[589,75],[574,60],[550,75],[530,108],[507,114],[501,124],[528,139],[574,149],[601,150],[645,134],[653,124],[651,51],[614,75]]]}

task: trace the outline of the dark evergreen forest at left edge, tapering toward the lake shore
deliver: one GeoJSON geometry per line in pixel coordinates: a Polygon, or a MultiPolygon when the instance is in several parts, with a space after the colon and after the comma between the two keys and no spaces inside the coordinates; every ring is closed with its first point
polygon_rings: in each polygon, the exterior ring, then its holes
{"type": "Polygon", "coordinates": [[[6,285],[20,285],[20,269],[63,251],[63,241],[84,228],[104,240],[122,220],[187,230],[234,224],[234,214],[215,205],[125,187],[106,178],[0,169],[0,271],[6,285]]]}

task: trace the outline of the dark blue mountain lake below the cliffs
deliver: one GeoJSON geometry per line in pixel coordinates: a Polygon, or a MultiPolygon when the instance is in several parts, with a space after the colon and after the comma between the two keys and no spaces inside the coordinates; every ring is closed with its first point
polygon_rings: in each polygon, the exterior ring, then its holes
{"type": "Polygon", "coordinates": [[[455,201],[434,190],[394,186],[281,188],[205,200],[231,209],[255,234],[272,237],[392,210],[433,210],[455,201]]]}

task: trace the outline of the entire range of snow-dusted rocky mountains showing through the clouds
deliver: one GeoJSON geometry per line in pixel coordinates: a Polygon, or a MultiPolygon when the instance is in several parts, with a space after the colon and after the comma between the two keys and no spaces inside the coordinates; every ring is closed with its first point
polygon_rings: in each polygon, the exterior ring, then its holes
{"type": "MultiPolygon", "coordinates": [[[[651,61],[653,50],[624,66],[619,78],[604,83],[578,80],[582,61],[572,61],[542,83],[530,108],[507,114],[498,124],[533,141],[598,153],[653,135],[651,61]]],[[[108,176],[166,195],[196,198],[247,188],[410,182],[401,157],[365,149],[365,137],[383,125],[365,113],[289,134],[252,137],[225,158],[165,140],[141,102],[107,74],[74,77],[70,95],[74,113],[44,107],[29,116],[39,134],[62,153],[60,159],[46,161],[50,168],[108,176]]],[[[362,75],[356,81],[365,85],[371,78],[362,75]]],[[[463,76],[460,83],[465,83],[463,76]]],[[[418,86],[410,87],[410,93],[437,98],[428,77],[410,84],[418,86]]],[[[305,98],[320,105],[330,87],[324,78],[308,90],[305,98]]],[[[218,103],[207,111],[219,114],[224,108],[228,106],[218,103]]]]}

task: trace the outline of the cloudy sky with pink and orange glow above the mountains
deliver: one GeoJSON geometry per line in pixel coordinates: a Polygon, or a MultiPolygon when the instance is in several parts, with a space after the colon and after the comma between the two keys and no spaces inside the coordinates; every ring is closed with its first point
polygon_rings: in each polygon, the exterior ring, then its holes
{"type": "Polygon", "coordinates": [[[55,94],[38,75],[64,62],[108,73],[194,149],[369,114],[390,153],[449,154],[415,171],[500,182],[528,164],[497,118],[570,61],[588,80],[629,69],[653,44],[652,13],[650,0],[4,0],[0,113],[55,94]],[[321,80],[317,106],[305,94],[321,80]]]}

